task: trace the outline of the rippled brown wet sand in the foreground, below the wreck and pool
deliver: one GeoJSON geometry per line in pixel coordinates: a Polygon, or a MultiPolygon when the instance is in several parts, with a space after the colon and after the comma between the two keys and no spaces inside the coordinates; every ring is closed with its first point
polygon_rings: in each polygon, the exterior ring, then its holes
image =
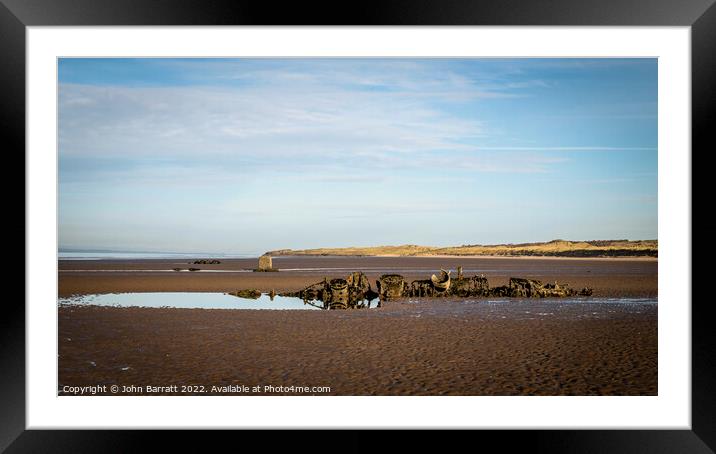
{"type": "Polygon", "coordinates": [[[309,395],[656,395],[657,305],[585,304],[62,307],[59,389],[201,385],[199,394],[222,394],[211,387],[272,385],[330,387],[298,393],[309,395]]]}

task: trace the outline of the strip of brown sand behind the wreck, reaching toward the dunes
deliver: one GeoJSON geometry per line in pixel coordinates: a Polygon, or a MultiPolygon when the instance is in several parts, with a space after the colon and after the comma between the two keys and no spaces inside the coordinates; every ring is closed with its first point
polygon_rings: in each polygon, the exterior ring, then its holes
{"type": "Polygon", "coordinates": [[[457,266],[462,266],[466,275],[485,274],[491,286],[505,285],[510,277],[528,277],[545,282],[557,280],[576,289],[591,287],[594,296],[603,297],[655,297],[658,288],[658,262],[654,259],[278,257],[273,259],[274,267],[292,271],[277,273],[245,272],[256,267],[256,259],[222,260],[219,265],[188,262],[63,260],[59,265],[59,296],[133,291],[230,292],[245,288],[296,291],[324,276],[344,277],[351,271],[364,271],[375,285],[378,276],[387,272],[403,274],[407,280],[426,279],[441,267],[457,266]],[[171,271],[190,266],[202,271],[171,271]]]}

